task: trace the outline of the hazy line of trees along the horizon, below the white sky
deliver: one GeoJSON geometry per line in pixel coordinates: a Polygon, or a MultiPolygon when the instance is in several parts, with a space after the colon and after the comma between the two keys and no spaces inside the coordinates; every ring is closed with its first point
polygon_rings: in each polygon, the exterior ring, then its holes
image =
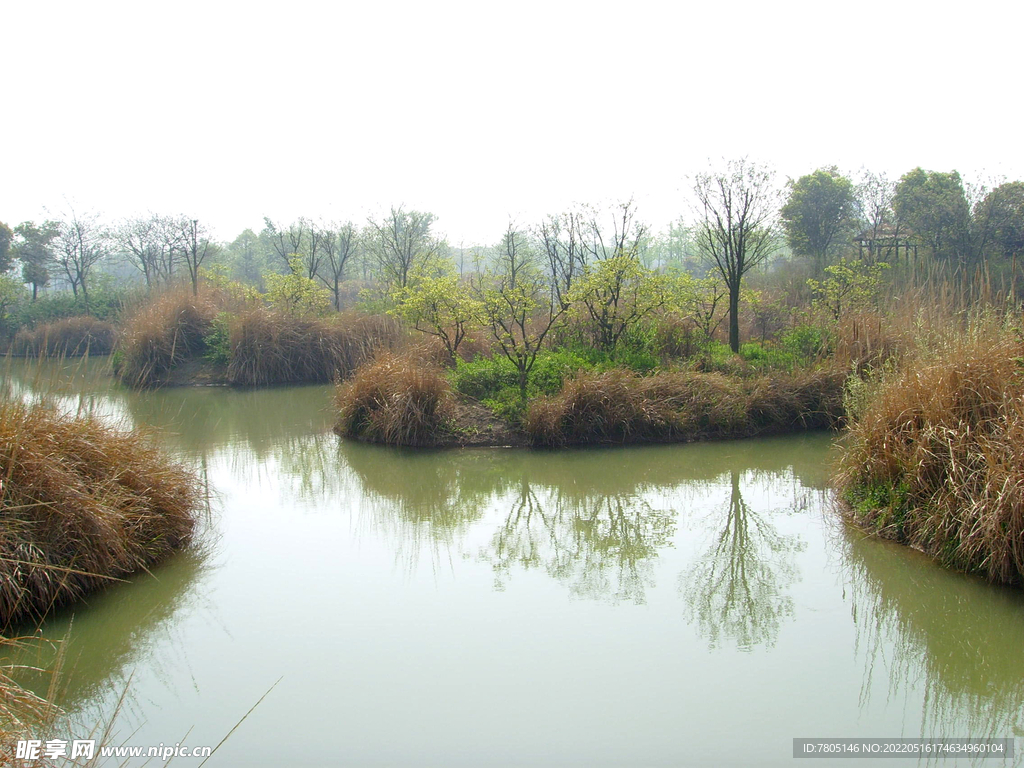
{"type": "Polygon", "coordinates": [[[745,159],[691,181],[691,209],[663,232],[640,220],[632,201],[579,205],[532,225],[510,222],[497,243],[471,248],[451,247],[433,214],[403,206],[361,224],[265,218],[258,232],[228,243],[188,215],[104,223],[69,210],[0,223],[0,319],[47,289],[68,290],[88,309],[97,274],[194,291],[204,270],[258,290],[268,275],[286,274],[328,292],[335,309],[360,301],[401,313],[453,351],[472,316],[525,375],[546,335],[573,314],[586,317],[596,344],[613,347],[657,308],[671,304],[713,331],[724,307],[736,350],[744,279],[780,260],[803,265],[818,285],[840,264],[900,258],[966,280],[990,263],[1015,269],[1024,249],[1021,181],[965,184],[955,171],[921,168],[895,181],[869,172],[855,180],[826,167],[779,183],[745,159]]]}

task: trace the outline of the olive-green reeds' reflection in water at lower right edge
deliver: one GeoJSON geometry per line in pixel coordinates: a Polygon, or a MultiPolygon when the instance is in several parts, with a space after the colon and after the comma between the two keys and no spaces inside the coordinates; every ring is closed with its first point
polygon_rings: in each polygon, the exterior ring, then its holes
{"type": "Polygon", "coordinates": [[[1024,597],[852,527],[835,538],[866,665],[863,703],[874,685],[895,700],[920,686],[922,736],[1019,734],[1024,597]]]}

